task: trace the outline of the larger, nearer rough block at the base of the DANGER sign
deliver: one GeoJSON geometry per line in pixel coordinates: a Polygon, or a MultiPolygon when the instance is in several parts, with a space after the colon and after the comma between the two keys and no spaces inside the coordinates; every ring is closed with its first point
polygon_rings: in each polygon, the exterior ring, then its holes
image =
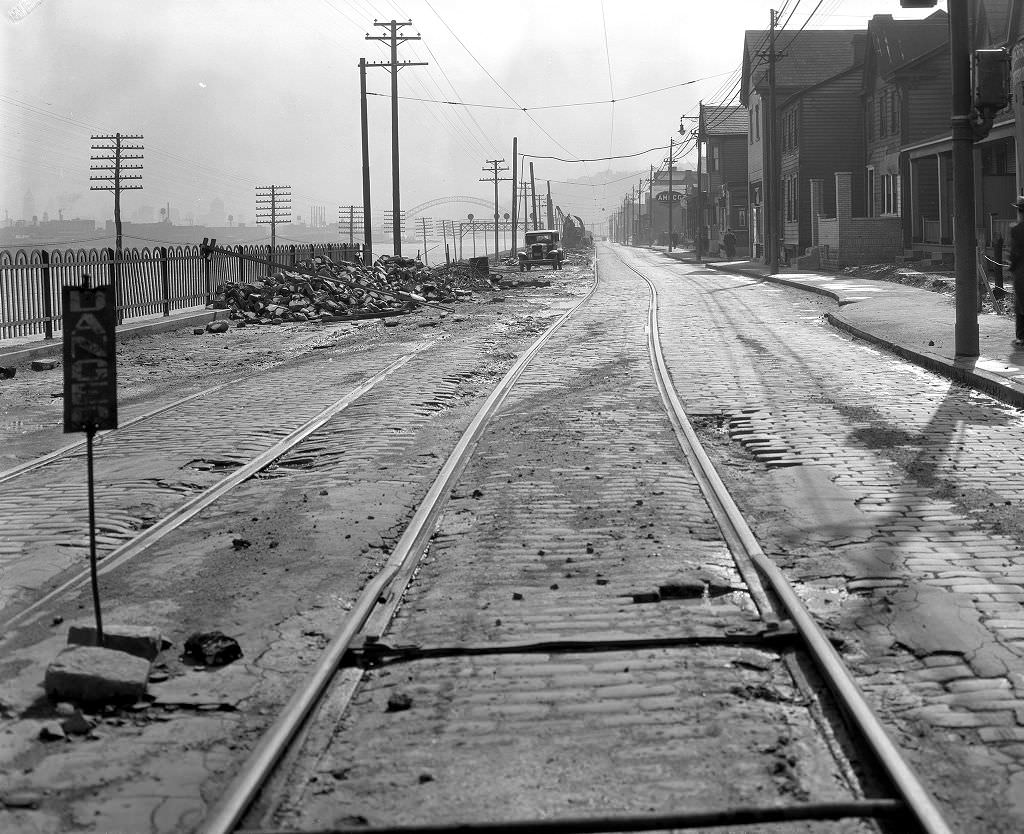
{"type": "Polygon", "coordinates": [[[46,669],[44,687],[53,701],[77,704],[135,703],[145,695],[150,661],[113,649],[69,645],[46,669]]]}

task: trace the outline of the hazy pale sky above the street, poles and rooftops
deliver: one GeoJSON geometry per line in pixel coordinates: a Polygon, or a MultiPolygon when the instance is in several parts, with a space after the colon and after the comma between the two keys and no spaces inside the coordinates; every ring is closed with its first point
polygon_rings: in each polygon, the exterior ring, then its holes
{"type": "MultiPolygon", "coordinates": [[[[899,0],[0,0],[0,220],[31,219],[27,207],[111,217],[89,166],[91,136],[116,132],[143,137],[142,189],[125,193],[125,219],[170,204],[200,222],[219,200],[252,224],[256,186],[272,183],[291,186],[293,219],[318,206],[337,220],[362,198],[358,61],[389,60],[389,46],[366,36],[393,19],[420,37],[398,46],[399,60],[426,65],[398,72],[403,210],[492,200],[487,163],[504,160],[510,177],[517,137],[538,192],[550,180],[564,211],[600,223],[683,138],[681,116],[701,99],[738,103],[743,32],[767,29],[772,8],[788,33],[935,10],[899,0]]],[[[367,89],[377,216],[392,205],[389,70],[369,68],[367,89]]],[[[695,162],[691,142],[677,168],[695,162]]],[[[511,183],[499,184],[507,210],[511,183]]]]}

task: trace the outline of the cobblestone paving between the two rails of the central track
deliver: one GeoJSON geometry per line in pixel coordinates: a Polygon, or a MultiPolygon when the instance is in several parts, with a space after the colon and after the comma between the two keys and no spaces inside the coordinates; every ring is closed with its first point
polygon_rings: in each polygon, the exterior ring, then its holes
{"type": "MultiPolygon", "coordinates": [[[[424,647],[760,628],[650,368],[646,285],[595,296],[488,428],[399,616],[424,647]],[[673,598],[703,571],[714,596],[673,598]],[[730,588],[736,589],[729,591],[730,588]]],[[[849,798],[780,656],[754,647],[419,660],[368,672],[273,824],[683,811],[849,798]],[[399,710],[394,705],[407,704],[399,710]]],[[[861,831],[856,821],[786,831],[861,831]]]]}

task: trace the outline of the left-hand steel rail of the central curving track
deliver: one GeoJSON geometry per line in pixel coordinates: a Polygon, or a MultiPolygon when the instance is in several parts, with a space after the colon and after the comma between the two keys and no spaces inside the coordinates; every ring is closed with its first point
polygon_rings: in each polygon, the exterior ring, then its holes
{"type": "Polygon", "coordinates": [[[269,779],[274,766],[288,750],[292,740],[301,732],[307,718],[323,699],[342,659],[352,640],[383,600],[394,579],[402,572],[411,573],[411,568],[426,549],[447,504],[451,488],[465,470],[476,447],[477,441],[486,429],[494,415],[508,398],[512,386],[522,375],[534,357],[547,343],[551,335],[573,314],[590,300],[597,289],[597,267],[595,281],[590,292],[571,309],[566,310],[542,333],[516,360],[492,390],[480,410],[463,432],[452,453],[441,466],[426,496],[420,503],[412,520],[395,544],[380,573],[362,589],[351,611],[341,624],[341,628],[313,667],[302,685],[295,692],[278,718],[257,743],[242,770],[221,795],[217,804],[198,829],[201,834],[230,834],[253,803],[263,785],[269,779]]]}

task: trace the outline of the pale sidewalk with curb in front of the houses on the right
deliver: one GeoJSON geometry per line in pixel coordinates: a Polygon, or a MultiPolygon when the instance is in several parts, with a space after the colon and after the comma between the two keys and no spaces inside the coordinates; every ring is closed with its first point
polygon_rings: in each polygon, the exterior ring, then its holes
{"type": "MultiPolygon", "coordinates": [[[[659,251],[666,257],[694,262],[692,251],[671,254],[664,248],[659,251]]],[[[706,258],[703,263],[712,269],[834,298],[840,309],[826,314],[833,326],[954,382],[1024,408],[1024,348],[1013,344],[1013,318],[979,314],[981,356],[957,359],[955,306],[941,293],[889,281],[800,272],[794,267],[773,276],[769,275],[768,266],[758,261],[725,261],[713,257],[706,258]]]]}

